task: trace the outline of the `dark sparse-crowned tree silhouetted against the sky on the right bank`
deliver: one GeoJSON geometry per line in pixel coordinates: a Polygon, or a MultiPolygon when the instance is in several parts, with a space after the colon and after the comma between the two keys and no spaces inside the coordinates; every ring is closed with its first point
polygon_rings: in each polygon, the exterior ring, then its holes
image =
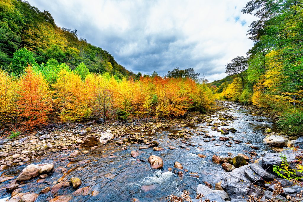
{"type": "Polygon", "coordinates": [[[231,63],[226,65],[226,71],[228,75],[238,75],[242,81],[242,89],[244,89],[244,79],[247,76],[247,58],[238,56],[231,60],[231,63]]]}

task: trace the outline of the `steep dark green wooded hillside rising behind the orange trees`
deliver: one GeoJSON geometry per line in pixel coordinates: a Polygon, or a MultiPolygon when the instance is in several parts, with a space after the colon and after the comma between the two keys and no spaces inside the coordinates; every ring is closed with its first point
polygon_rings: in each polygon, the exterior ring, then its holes
{"type": "Polygon", "coordinates": [[[108,51],[79,38],[77,30],[58,27],[48,11],[41,12],[28,2],[0,1],[0,23],[0,67],[4,70],[15,51],[25,47],[38,64],[53,58],[71,69],[83,62],[92,73],[109,72],[120,78],[132,75],[108,51]]]}

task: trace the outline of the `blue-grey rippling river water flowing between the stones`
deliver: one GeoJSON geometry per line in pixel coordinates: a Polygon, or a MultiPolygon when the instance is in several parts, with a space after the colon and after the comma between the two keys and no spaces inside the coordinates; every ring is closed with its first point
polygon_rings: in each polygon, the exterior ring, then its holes
{"type": "MultiPolygon", "coordinates": [[[[71,177],[78,177],[82,180],[81,187],[90,186],[91,190],[99,191],[97,196],[73,196],[70,201],[132,201],[133,198],[137,198],[139,201],[165,201],[165,197],[174,194],[180,195],[182,190],[188,190],[191,197],[195,197],[195,192],[198,184],[203,184],[204,181],[208,181],[213,186],[216,182],[220,181],[220,173],[224,172],[221,165],[214,164],[212,162],[213,154],[218,156],[228,156],[228,152],[237,155],[238,153],[249,156],[248,152],[252,151],[249,145],[259,147],[259,150],[255,151],[259,158],[265,151],[269,151],[267,145],[263,144],[263,130],[264,128],[275,128],[271,122],[271,119],[265,118],[259,115],[248,114],[249,111],[241,107],[241,105],[224,102],[225,106],[228,106],[230,110],[221,111],[225,115],[232,115],[236,117],[235,120],[229,121],[229,126],[222,127],[234,127],[237,132],[226,135],[234,137],[243,141],[240,144],[232,144],[232,147],[225,146],[225,142],[218,141],[221,133],[212,131],[211,126],[205,128],[206,123],[195,124],[190,126],[192,133],[194,134],[187,143],[184,144],[180,139],[170,140],[168,133],[180,130],[180,128],[169,128],[168,131],[161,131],[153,135],[154,140],[159,142],[159,147],[165,148],[164,151],[153,151],[151,148],[140,150],[142,144],[132,144],[125,151],[117,150],[114,142],[108,143],[104,146],[97,147],[95,150],[91,150],[89,154],[85,156],[76,156],[75,161],[68,162],[60,161],[62,157],[68,157],[68,154],[62,152],[45,154],[43,157],[39,157],[37,160],[32,160],[23,166],[10,167],[2,171],[2,176],[18,176],[22,169],[30,164],[54,164],[55,169],[58,167],[65,167],[68,173],[65,177],[70,179],[71,177]],[[208,131],[208,134],[214,135],[215,141],[204,142],[203,140],[211,140],[212,138],[205,138],[201,131],[208,131]],[[169,141],[169,143],[167,143],[169,141]],[[251,144],[245,144],[245,143],[251,144]],[[189,146],[190,144],[195,146],[189,146]],[[214,144],[220,144],[222,146],[215,146],[214,144]],[[168,146],[175,146],[176,149],[170,150],[168,146]],[[188,149],[180,148],[183,145],[188,149]],[[204,151],[198,149],[202,147],[204,151]],[[130,156],[132,150],[139,151],[139,156],[133,158],[130,156]],[[112,156],[110,154],[113,154],[112,156]],[[197,154],[205,154],[206,158],[200,158],[197,154]],[[145,159],[150,155],[157,155],[164,161],[162,170],[151,169],[148,162],[141,162],[139,159],[145,159]],[[174,166],[175,161],[180,162],[184,169],[183,178],[168,171],[168,167],[174,166]]],[[[217,119],[218,114],[211,115],[212,119],[217,119]]],[[[214,121],[215,122],[215,121],[214,121]]],[[[218,121],[221,122],[221,121],[218,121]]],[[[220,128],[220,127],[219,127],[220,128]]],[[[233,141],[232,141],[233,142],[233,141]]],[[[227,142],[226,142],[227,143],[227,142]]],[[[82,146],[82,150],[89,150],[92,146],[100,143],[96,141],[88,142],[85,146],[82,146]]],[[[174,169],[173,169],[174,171],[174,169]]],[[[52,187],[52,182],[57,181],[62,177],[61,172],[53,172],[45,179],[34,178],[21,184],[22,192],[29,191],[31,193],[39,193],[45,187],[52,187]],[[49,183],[49,184],[47,184],[49,183]]],[[[1,198],[9,197],[10,194],[6,192],[5,187],[8,181],[0,184],[1,198]]],[[[56,195],[72,195],[75,190],[72,187],[67,187],[59,190],[56,195]]],[[[55,195],[55,196],[56,196],[55,195]]],[[[50,192],[46,194],[39,194],[36,201],[48,201],[53,198],[50,192]]],[[[1,200],[0,200],[1,201],[1,200]]]]}

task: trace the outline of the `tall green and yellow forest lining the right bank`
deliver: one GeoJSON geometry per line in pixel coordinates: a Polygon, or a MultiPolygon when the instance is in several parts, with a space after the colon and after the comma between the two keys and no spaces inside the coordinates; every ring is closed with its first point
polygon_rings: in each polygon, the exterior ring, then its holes
{"type": "Polygon", "coordinates": [[[247,3],[244,14],[257,16],[248,31],[255,45],[246,57],[226,65],[230,76],[211,83],[216,99],[239,101],[271,109],[280,116],[283,131],[303,127],[303,3],[259,1],[247,3]]]}

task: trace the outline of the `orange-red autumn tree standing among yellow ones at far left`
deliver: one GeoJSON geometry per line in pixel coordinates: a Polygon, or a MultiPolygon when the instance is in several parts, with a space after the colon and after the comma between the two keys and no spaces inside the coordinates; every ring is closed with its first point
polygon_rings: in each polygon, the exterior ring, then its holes
{"type": "Polygon", "coordinates": [[[52,91],[41,74],[35,74],[28,65],[20,78],[20,116],[29,128],[46,124],[52,110],[52,91]]]}

